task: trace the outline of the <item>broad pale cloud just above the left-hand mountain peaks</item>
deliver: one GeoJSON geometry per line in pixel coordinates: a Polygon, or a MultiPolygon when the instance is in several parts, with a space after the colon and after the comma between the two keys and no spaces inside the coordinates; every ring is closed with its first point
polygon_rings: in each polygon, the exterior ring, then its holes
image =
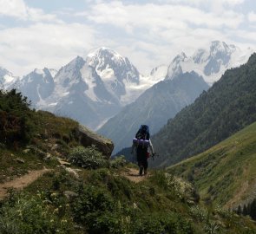
{"type": "Polygon", "coordinates": [[[16,75],[60,68],[95,45],[95,31],[79,23],[36,23],[0,31],[0,64],[16,75]]]}

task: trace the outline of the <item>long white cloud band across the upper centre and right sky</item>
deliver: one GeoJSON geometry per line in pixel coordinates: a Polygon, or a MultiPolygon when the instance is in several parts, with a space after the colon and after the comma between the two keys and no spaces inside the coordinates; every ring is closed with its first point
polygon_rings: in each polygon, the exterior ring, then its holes
{"type": "Polygon", "coordinates": [[[116,27],[126,28],[130,25],[134,28],[144,29],[173,29],[175,25],[182,24],[186,27],[187,23],[197,27],[209,28],[237,28],[243,22],[244,17],[232,10],[213,14],[203,10],[183,5],[157,5],[154,3],[124,4],[118,1],[111,3],[99,3],[92,7],[90,14],[83,12],[89,20],[95,23],[112,24],[116,27]]]}

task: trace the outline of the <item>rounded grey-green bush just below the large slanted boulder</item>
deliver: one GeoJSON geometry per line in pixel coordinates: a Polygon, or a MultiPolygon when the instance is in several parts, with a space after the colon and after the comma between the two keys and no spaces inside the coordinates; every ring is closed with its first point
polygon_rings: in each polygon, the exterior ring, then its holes
{"type": "Polygon", "coordinates": [[[87,148],[83,146],[75,147],[69,154],[69,162],[75,166],[89,169],[108,166],[108,160],[96,150],[95,146],[87,148]]]}

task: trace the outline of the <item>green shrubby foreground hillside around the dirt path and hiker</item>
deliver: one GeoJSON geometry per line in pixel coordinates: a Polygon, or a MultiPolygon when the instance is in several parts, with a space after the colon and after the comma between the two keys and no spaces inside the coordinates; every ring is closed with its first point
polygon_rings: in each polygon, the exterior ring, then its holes
{"type": "Polygon", "coordinates": [[[81,146],[75,121],[30,110],[15,90],[1,91],[0,105],[0,189],[49,169],[0,201],[0,233],[255,233],[250,218],[200,205],[194,186],[169,173],[129,180],[133,165],[81,146]]]}

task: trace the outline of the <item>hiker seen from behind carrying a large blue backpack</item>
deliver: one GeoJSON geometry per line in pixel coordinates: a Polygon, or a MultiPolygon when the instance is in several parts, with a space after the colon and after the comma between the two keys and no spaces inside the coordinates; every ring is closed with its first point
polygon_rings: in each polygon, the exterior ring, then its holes
{"type": "Polygon", "coordinates": [[[150,140],[149,127],[147,125],[141,125],[133,140],[131,151],[131,153],[134,153],[134,149],[136,148],[138,166],[140,167],[140,175],[142,175],[143,170],[144,175],[147,175],[149,158],[148,146],[152,156],[154,157],[154,148],[150,140]]]}

